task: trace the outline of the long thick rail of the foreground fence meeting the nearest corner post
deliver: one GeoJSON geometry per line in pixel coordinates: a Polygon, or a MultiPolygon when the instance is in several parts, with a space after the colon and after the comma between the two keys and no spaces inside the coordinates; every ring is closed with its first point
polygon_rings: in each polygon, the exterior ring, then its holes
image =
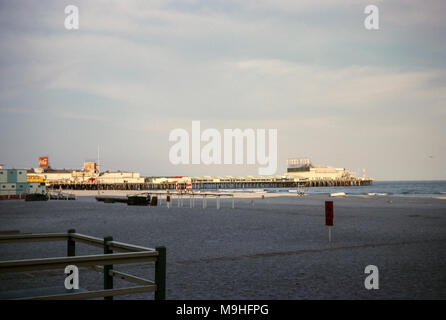
{"type": "Polygon", "coordinates": [[[157,251],[129,252],[129,253],[111,253],[88,256],[74,256],[63,258],[44,258],[12,260],[0,262],[0,273],[3,272],[22,272],[32,270],[48,270],[65,268],[67,265],[74,264],[78,267],[87,267],[92,265],[111,265],[136,262],[156,261],[157,251]]]}

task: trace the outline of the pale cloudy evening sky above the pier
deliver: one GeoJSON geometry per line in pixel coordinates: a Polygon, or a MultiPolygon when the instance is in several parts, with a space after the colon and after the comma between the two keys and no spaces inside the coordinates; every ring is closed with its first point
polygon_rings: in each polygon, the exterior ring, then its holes
{"type": "Polygon", "coordinates": [[[0,0],[0,163],[145,176],[258,175],[173,165],[169,133],[277,129],[286,159],[377,180],[446,179],[446,2],[0,0]],[[367,30],[367,5],[379,30],[367,30]],[[64,26],[67,5],[79,29],[64,26]]]}

